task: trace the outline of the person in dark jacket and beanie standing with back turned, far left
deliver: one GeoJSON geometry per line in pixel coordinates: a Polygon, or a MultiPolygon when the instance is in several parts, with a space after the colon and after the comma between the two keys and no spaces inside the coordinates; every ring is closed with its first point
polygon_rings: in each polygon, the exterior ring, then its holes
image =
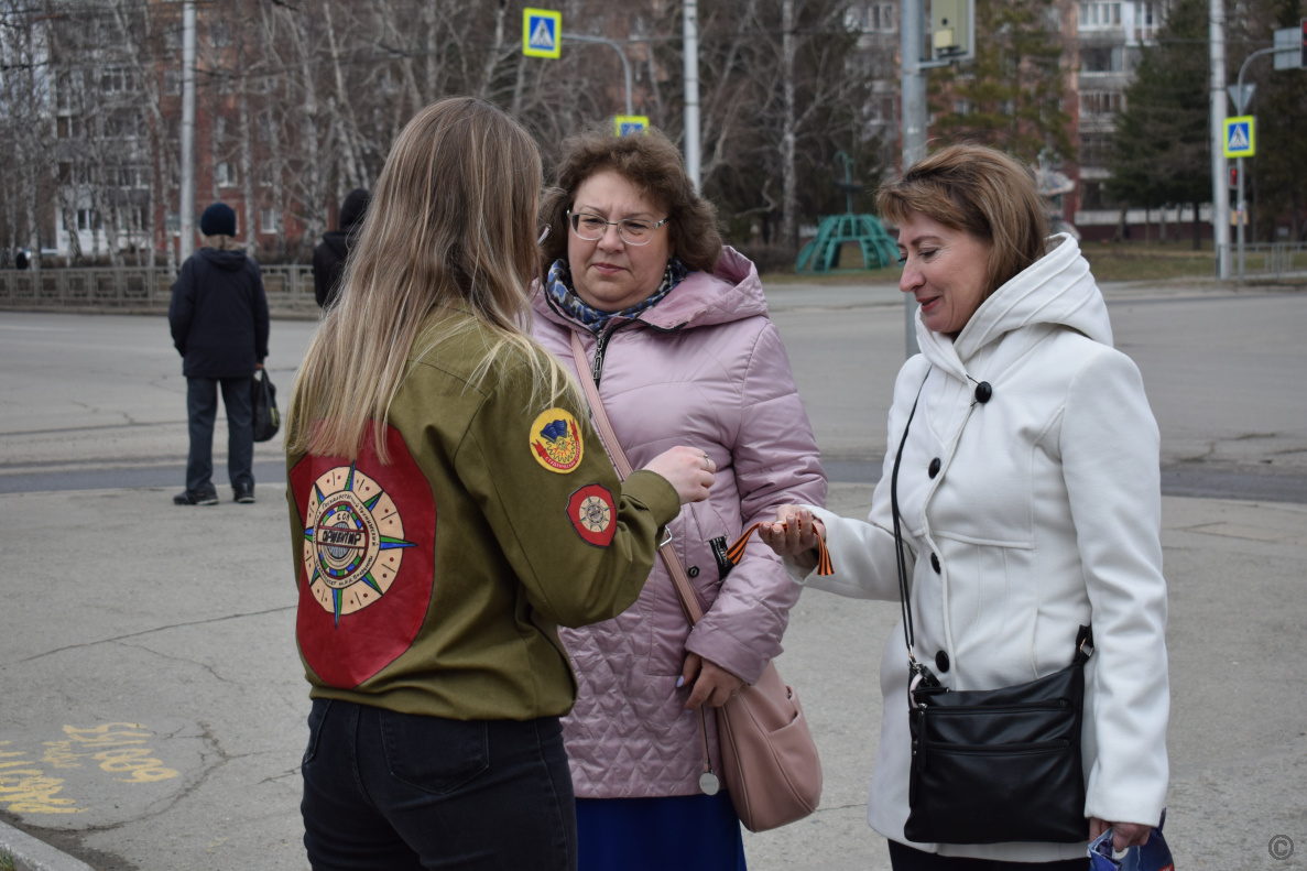
{"type": "Polygon", "coordinates": [[[204,246],[182,264],[167,319],[182,354],[191,453],[176,505],[217,505],[213,421],[218,387],[227,409],[227,477],[237,502],[254,502],[252,378],[268,356],[268,298],[259,264],[235,247],[237,214],[214,203],[200,217],[204,246]]]}

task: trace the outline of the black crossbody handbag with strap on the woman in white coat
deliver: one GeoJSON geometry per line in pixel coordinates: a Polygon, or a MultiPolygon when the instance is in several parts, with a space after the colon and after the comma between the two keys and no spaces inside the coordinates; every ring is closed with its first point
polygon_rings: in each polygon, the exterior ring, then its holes
{"type": "Polygon", "coordinates": [[[1094,651],[1090,628],[1080,628],[1069,666],[1016,687],[953,691],[916,660],[898,510],[899,463],[915,413],[912,403],[890,479],[911,672],[912,766],[903,836],[919,844],[1087,841],[1080,730],[1085,663],[1094,651]]]}

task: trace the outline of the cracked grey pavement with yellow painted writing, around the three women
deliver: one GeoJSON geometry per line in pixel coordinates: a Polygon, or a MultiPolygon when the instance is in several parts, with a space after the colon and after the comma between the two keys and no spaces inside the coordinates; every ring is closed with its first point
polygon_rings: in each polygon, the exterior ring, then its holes
{"type": "MultiPolygon", "coordinates": [[[[870,487],[835,485],[861,517],[870,487]]],[[[294,870],[308,710],[285,507],[166,489],[0,496],[0,820],[99,871],[294,870]]],[[[1307,507],[1166,498],[1167,834],[1180,868],[1303,867],[1307,507]],[[1299,851],[1276,861],[1272,837],[1299,851]]],[[[808,592],[778,660],[822,751],[813,817],[746,834],[754,871],[887,868],[867,828],[897,603],[808,592]]],[[[30,841],[0,845],[27,861],[30,841]],[[27,846],[25,846],[27,845],[27,846]],[[26,850],[26,853],[25,853],[26,850]]],[[[12,836],[10,836],[12,837],[12,836]]],[[[65,857],[65,858],[67,858],[65,857]]],[[[31,871],[84,871],[33,854],[31,871]]]]}

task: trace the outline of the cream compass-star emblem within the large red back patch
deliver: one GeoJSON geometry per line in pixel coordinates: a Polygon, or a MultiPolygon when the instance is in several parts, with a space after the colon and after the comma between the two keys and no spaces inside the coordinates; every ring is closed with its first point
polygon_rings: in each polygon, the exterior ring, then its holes
{"type": "Polygon", "coordinates": [[[305,506],[305,574],[312,598],[341,616],[375,604],[404,561],[404,521],[382,487],[354,466],[320,475],[305,506]],[[382,558],[382,555],[386,558],[382,558]]]}

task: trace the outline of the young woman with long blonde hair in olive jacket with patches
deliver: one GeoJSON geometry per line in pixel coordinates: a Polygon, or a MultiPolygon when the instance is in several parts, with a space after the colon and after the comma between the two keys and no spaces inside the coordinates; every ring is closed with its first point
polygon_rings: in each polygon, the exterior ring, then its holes
{"type": "Polygon", "coordinates": [[[690,447],[620,481],[524,331],[540,182],[535,143],[493,106],[418,112],[295,383],[315,870],[575,867],[557,626],[630,606],[664,526],[712,483],[690,447]]]}

